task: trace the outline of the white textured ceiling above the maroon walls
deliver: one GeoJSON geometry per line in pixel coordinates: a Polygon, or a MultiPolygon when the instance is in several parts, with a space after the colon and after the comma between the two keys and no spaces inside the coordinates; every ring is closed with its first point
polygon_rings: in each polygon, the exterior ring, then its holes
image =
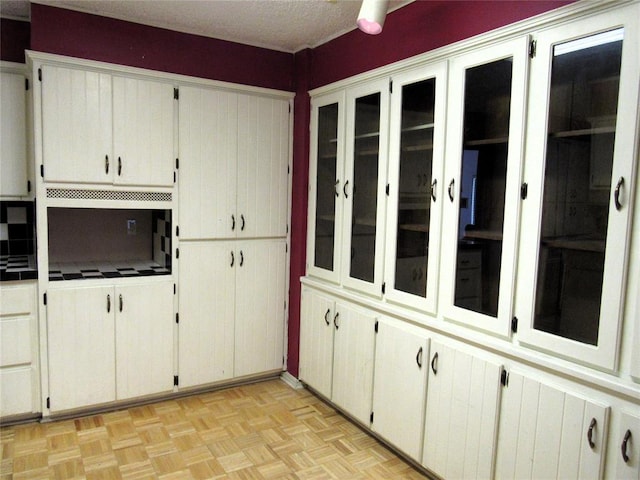
{"type": "MultiPolygon", "coordinates": [[[[389,11],[413,0],[391,0],[389,11]]],[[[37,0],[179,32],[297,52],[355,29],[361,0],[37,0]]],[[[0,15],[28,19],[28,0],[0,0],[0,15]]]]}

